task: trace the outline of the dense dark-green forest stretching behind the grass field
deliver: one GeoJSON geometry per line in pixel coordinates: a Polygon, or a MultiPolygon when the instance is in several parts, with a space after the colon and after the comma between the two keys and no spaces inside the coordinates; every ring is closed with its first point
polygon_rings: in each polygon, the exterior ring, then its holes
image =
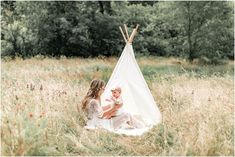
{"type": "Polygon", "coordinates": [[[233,10],[232,1],[2,1],[1,56],[118,56],[125,23],[140,25],[138,55],[216,64],[234,58],[233,10]]]}

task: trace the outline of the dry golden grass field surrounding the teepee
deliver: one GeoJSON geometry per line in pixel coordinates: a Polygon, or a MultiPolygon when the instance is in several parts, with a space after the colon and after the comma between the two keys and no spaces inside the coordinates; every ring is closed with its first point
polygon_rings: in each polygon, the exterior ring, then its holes
{"type": "Polygon", "coordinates": [[[234,155],[234,64],[176,58],[138,63],[163,121],[140,137],[83,129],[77,105],[117,58],[9,60],[1,64],[2,155],[234,155]]]}

